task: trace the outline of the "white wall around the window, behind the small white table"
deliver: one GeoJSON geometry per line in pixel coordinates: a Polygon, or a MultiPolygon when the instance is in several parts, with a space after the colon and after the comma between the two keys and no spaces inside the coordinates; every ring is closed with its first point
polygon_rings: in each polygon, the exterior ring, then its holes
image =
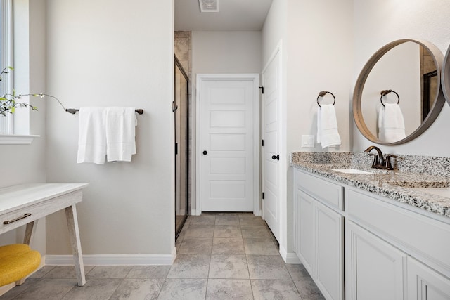
{"type": "MultiPolygon", "coordinates": [[[[45,92],[45,1],[44,0],[15,0],[15,55],[13,67],[15,71],[15,89],[17,93],[45,92]],[[30,55],[32,53],[32,56],[30,55]]],[[[18,109],[25,117],[20,132],[23,134],[37,134],[31,145],[0,145],[1,181],[0,188],[22,183],[46,182],[45,156],[45,115],[46,102],[40,98],[21,99],[30,100],[32,105],[39,108],[36,112],[18,109]]],[[[15,116],[16,117],[16,116],[15,116]]],[[[45,219],[38,221],[32,247],[41,254],[46,253],[45,247],[45,219]]],[[[0,235],[0,244],[23,242],[24,228],[13,230],[0,235]]]]}

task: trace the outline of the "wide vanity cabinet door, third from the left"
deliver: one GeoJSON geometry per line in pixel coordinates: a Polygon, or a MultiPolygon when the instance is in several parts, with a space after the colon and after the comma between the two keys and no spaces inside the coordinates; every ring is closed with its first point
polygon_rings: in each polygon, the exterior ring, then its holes
{"type": "Polygon", "coordinates": [[[352,221],[345,222],[345,295],[403,300],[406,254],[352,221]]]}

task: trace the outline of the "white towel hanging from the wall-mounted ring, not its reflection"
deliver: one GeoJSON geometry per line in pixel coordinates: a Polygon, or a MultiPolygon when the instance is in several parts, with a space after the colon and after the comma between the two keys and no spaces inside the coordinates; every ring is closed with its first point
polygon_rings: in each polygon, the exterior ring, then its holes
{"type": "Polygon", "coordinates": [[[317,143],[322,144],[322,149],[341,143],[335,107],[332,104],[322,104],[318,107],[317,143]]]}

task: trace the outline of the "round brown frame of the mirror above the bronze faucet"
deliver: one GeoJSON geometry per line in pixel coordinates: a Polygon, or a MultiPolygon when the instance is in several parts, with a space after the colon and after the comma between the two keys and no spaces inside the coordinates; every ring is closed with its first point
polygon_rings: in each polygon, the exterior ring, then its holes
{"type": "MultiPolygon", "coordinates": [[[[449,48],[450,50],[450,48],[449,48]]],[[[449,53],[447,53],[449,56],[449,53]]],[[[447,60],[449,60],[448,58],[447,60]]],[[[445,98],[442,93],[442,84],[441,84],[441,70],[442,70],[442,62],[444,60],[444,56],[442,55],[441,51],[433,45],[430,44],[428,41],[421,41],[418,39],[399,39],[397,41],[392,41],[389,44],[383,46],[380,48],[380,50],[376,51],[375,54],[368,60],[366,65],[364,65],[363,69],[361,70],[361,73],[359,73],[359,77],[356,80],[356,84],[353,91],[353,103],[352,103],[352,109],[353,109],[353,118],[354,122],[356,124],[356,127],[359,129],[359,131],[362,133],[362,135],[367,138],[369,141],[372,141],[373,143],[377,143],[380,145],[400,145],[409,141],[412,141],[414,138],[417,138],[422,134],[425,130],[427,130],[433,122],[435,122],[435,119],[439,115],[439,112],[441,112],[442,107],[445,103],[445,98]],[[392,143],[386,143],[385,141],[381,141],[377,136],[375,136],[367,127],[366,123],[364,122],[364,117],[361,110],[361,98],[362,93],[364,89],[364,84],[366,83],[366,80],[368,78],[368,75],[370,74],[371,70],[375,66],[375,64],[382,58],[387,51],[390,51],[395,46],[398,46],[400,44],[404,44],[407,41],[412,41],[413,43],[419,44],[420,46],[423,46],[426,50],[430,52],[430,54],[433,57],[433,60],[435,60],[435,65],[437,68],[437,83],[438,83],[438,89],[439,91],[436,94],[436,98],[434,101],[434,104],[432,107],[430,107],[430,112],[428,113],[428,116],[423,120],[422,124],[418,126],[418,128],[413,131],[409,136],[406,136],[406,138],[401,139],[400,141],[392,142],[392,143]]],[[[450,62],[448,67],[446,67],[448,71],[446,74],[450,74],[450,62]]],[[[442,73],[444,74],[444,73],[442,73]]],[[[449,97],[447,100],[450,104],[450,81],[447,82],[446,91],[448,91],[449,97]]]]}

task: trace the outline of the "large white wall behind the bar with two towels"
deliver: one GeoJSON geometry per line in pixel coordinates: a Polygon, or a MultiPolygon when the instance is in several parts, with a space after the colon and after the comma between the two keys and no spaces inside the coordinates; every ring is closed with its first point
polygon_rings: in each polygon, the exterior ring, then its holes
{"type": "MultiPolygon", "coordinates": [[[[48,92],[65,107],[131,106],[132,162],[77,164],[78,115],[48,105],[47,181],[89,183],[77,205],[83,254],[174,250],[173,1],[48,0],[48,92]]],[[[62,213],[47,254],[70,254],[62,213]]]]}

